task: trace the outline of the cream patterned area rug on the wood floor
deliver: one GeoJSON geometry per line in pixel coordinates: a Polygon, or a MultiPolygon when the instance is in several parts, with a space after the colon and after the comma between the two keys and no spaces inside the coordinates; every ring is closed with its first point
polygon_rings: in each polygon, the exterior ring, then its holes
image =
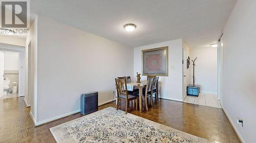
{"type": "Polygon", "coordinates": [[[206,139],[108,107],[50,128],[57,143],[186,142],[206,139]]]}

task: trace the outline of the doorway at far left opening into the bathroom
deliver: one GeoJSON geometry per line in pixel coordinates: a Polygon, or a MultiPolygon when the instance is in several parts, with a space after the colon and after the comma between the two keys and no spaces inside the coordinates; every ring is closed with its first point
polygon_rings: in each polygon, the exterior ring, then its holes
{"type": "Polygon", "coordinates": [[[25,47],[0,43],[0,99],[22,96],[25,96],[25,47]]]}

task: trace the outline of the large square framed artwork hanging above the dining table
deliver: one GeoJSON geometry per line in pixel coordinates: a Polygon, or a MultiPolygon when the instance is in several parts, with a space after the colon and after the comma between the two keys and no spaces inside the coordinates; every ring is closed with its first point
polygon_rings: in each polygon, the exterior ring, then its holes
{"type": "Polygon", "coordinates": [[[142,54],[142,75],[168,76],[168,47],[146,49],[142,54]]]}

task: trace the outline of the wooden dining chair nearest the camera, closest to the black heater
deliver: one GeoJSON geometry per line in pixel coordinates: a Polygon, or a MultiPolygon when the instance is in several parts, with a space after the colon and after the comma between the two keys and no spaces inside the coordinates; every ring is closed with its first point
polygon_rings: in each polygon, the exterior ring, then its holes
{"type": "MultiPolygon", "coordinates": [[[[116,80],[116,89],[117,89],[117,103],[120,100],[125,101],[125,113],[127,113],[127,108],[130,101],[136,102],[136,110],[138,109],[138,97],[134,95],[130,95],[127,92],[126,79],[117,79],[116,80]]],[[[116,106],[116,110],[118,110],[118,105],[116,106]]]]}

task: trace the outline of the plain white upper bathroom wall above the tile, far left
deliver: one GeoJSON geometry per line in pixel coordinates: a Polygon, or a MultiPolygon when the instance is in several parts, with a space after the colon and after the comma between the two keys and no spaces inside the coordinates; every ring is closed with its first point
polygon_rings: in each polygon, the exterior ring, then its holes
{"type": "Polygon", "coordinates": [[[4,70],[19,70],[19,53],[5,52],[4,70]]]}

